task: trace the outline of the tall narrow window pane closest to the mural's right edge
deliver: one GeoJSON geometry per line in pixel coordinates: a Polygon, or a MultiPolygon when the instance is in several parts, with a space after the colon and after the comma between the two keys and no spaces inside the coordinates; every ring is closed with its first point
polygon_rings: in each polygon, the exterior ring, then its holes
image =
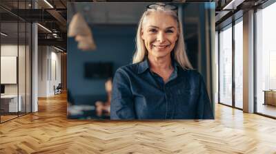
{"type": "Polygon", "coordinates": [[[219,33],[219,102],[232,105],[232,28],[219,33]]]}

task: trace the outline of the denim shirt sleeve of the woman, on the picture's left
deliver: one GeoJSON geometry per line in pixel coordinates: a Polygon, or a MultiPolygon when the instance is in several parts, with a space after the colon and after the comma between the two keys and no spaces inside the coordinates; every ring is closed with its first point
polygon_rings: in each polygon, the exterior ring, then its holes
{"type": "Polygon", "coordinates": [[[112,85],[112,97],[110,104],[110,119],[129,120],[135,119],[135,109],[132,92],[130,90],[130,80],[123,69],[118,69],[115,73],[112,85]]]}

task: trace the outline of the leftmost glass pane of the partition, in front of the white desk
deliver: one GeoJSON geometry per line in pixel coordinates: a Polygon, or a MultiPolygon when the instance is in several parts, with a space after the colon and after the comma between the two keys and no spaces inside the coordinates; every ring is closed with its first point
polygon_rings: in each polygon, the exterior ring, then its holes
{"type": "Polygon", "coordinates": [[[18,22],[1,23],[1,122],[17,118],[21,111],[18,97],[18,22]]]}

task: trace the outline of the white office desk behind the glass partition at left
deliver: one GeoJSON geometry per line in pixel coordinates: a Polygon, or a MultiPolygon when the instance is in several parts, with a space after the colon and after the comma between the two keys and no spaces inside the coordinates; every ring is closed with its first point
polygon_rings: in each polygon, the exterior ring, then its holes
{"type": "Polygon", "coordinates": [[[4,112],[17,112],[17,109],[19,111],[22,110],[21,100],[22,96],[18,96],[18,106],[17,106],[17,95],[4,95],[1,96],[1,109],[4,110],[4,112]]]}

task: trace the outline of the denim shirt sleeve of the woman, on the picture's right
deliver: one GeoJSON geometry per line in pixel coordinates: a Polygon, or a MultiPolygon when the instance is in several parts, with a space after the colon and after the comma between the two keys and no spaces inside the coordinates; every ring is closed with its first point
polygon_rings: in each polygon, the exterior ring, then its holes
{"type": "Polygon", "coordinates": [[[214,119],[212,106],[204,83],[203,77],[199,78],[199,102],[198,102],[198,119],[214,119]]]}

